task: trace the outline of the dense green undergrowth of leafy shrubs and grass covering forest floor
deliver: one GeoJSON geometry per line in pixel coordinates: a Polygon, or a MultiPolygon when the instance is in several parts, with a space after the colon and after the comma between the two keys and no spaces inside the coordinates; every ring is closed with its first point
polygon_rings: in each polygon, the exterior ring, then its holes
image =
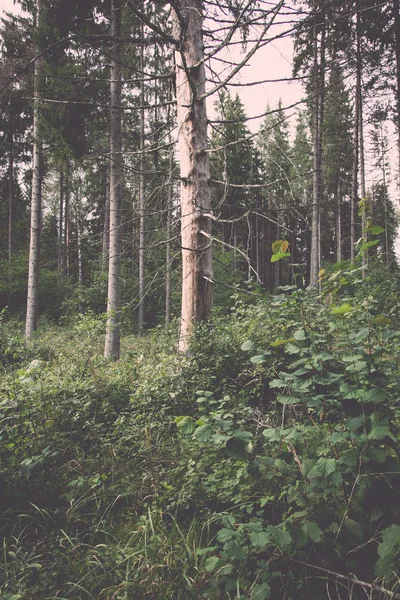
{"type": "Polygon", "coordinates": [[[190,358],[3,315],[0,597],[400,597],[398,281],[361,275],[235,297],[190,358]]]}

